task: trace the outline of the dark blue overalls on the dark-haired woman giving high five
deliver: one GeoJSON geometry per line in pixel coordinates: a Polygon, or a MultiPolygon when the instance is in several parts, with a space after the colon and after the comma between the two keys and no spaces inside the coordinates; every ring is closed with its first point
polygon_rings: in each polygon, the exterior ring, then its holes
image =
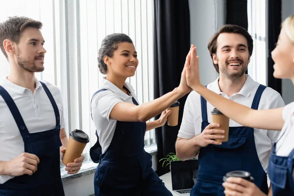
{"type": "Polygon", "coordinates": [[[90,150],[92,160],[99,163],[94,176],[95,196],[172,196],[151,168],[152,156],[144,150],[145,132],[146,123],[117,121],[103,154],[97,139],[90,150]]]}

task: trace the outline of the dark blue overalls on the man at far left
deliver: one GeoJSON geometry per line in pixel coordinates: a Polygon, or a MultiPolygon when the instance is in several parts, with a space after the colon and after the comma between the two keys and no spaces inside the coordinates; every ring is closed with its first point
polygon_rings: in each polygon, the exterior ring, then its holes
{"type": "MultiPolygon", "coordinates": [[[[56,118],[56,127],[42,132],[29,133],[25,122],[8,92],[0,86],[0,95],[6,102],[19,127],[25,143],[25,152],[39,157],[38,170],[32,175],[16,176],[0,184],[0,196],[64,196],[60,176],[59,136],[60,117],[56,102],[48,87],[40,81],[45,90],[56,118]]],[[[7,130],[8,131],[8,130],[7,130]]]]}

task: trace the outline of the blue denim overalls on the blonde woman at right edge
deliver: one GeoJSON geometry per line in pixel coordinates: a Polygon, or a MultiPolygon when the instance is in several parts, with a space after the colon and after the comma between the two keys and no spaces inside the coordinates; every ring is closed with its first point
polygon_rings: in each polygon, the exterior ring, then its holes
{"type": "Polygon", "coordinates": [[[290,152],[288,157],[277,156],[275,143],[270,153],[270,163],[268,167],[272,196],[294,196],[293,168],[294,149],[290,152]]]}

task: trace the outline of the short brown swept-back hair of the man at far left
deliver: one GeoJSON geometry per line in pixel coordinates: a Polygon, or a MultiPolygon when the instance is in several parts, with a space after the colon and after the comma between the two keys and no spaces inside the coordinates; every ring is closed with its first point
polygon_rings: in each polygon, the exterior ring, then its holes
{"type": "Polygon", "coordinates": [[[8,39],[18,44],[20,42],[21,34],[25,28],[34,27],[41,29],[42,26],[43,24],[40,21],[35,21],[24,16],[8,17],[6,21],[0,23],[0,48],[5,57],[8,58],[3,47],[4,40],[8,39]]]}

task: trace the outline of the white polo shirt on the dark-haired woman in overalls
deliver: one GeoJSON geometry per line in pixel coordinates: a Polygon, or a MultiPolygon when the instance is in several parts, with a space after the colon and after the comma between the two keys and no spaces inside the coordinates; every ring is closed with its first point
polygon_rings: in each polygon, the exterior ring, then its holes
{"type": "Polygon", "coordinates": [[[104,77],[101,89],[107,89],[107,91],[99,92],[92,99],[92,117],[99,136],[102,153],[108,149],[117,124],[117,120],[109,118],[112,108],[119,102],[133,103],[132,97],[139,103],[133,87],[128,82],[125,82],[124,86],[130,91],[130,96],[104,77]]]}

